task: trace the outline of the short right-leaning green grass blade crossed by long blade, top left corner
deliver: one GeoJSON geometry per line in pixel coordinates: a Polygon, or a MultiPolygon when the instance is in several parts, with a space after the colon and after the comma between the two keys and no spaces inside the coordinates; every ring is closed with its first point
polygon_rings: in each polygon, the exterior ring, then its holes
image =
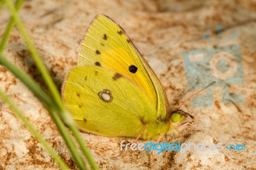
{"type": "MultiPolygon", "coordinates": [[[[3,3],[3,1],[0,1],[0,3],[3,3]]],[[[16,9],[17,11],[19,11],[20,6],[21,6],[22,3],[23,3],[23,0],[17,0],[17,2],[15,3],[15,9],[16,9]]],[[[0,6],[1,6],[1,4],[0,4],[0,6]]],[[[1,10],[1,9],[0,9],[0,10],[1,10]]],[[[8,23],[8,25],[7,25],[7,27],[6,27],[6,30],[5,30],[5,32],[4,32],[4,36],[3,36],[3,38],[2,38],[2,41],[1,41],[1,43],[0,43],[0,53],[3,52],[4,47],[6,46],[6,43],[7,43],[8,40],[9,40],[9,37],[10,37],[10,35],[11,35],[11,31],[12,31],[12,28],[13,28],[14,24],[15,24],[15,21],[14,21],[13,18],[11,18],[11,19],[10,19],[10,22],[8,23]]]]}

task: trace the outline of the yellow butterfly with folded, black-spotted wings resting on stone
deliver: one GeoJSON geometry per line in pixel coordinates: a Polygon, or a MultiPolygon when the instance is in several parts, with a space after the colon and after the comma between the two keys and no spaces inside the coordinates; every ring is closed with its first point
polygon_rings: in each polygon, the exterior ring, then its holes
{"type": "Polygon", "coordinates": [[[88,27],[62,96],[80,128],[111,137],[153,139],[170,134],[186,116],[169,106],[156,74],[106,15],[88,27]]]}

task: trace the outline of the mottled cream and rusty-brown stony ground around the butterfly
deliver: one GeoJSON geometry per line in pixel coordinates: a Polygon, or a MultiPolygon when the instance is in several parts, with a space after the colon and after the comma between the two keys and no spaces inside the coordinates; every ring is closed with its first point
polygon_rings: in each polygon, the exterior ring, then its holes
{"type": "MultiPolygon", "coordinates": [[[[198,81],[188,82],[184,52],[218,49],[218,24],[223,26],[221,40],[238,33],[222,45],[237,44],[241,48],[234,55],[241,53],[242,59],[237,62],[243,65],[243,70],[240,70],[243,81],[228,87],[229,91],[241,94],[244,102],[236,104],[236,98],[233,98],[235,102],[231,98],[233,102],[223,104],[222,88],[214,86],[212,107],[193,107],[188,102],[182,108],[196,117],[194,124],[199,130],[188,127],[180,134],[181,137],[173,135],[162,140],[170,143],[223,143],[225,146],[244,144],[246,148],[245,151],[191,150],[184,153],[163,151],[161,154],[131,151],[118,156],[120,141],[124,138],[83,133],[84,142],[101,169],[256,169],[255,1],[26,1],[20,16],[59,88],[70,67],[76,65],[84,31],[98,13],[108,15],[127,31],[159,76],[170,104],[176,107],[195,93],[195,90],[189,90],[193,87],[189,87],[198,81]],[[202,38],[203,33],[214,42],[202,38]]],[[[0,12],[0,35],[3,35],[9,17],[4,8],[0,12]]],[[[38,84],[45,86],[17,29],[12,31],[4,56],[29,73],[38,84]]],[[[200,69],[206,72],[207,68],[209,65],[200,69]]],[[[211,81],[208,78],[198,79],[211,81]]],[[[0,88],[42,132],[65,162],[76,169],[42,104],[3,66],[0,66],[0,82],[0,88]]],[[[1,100],[0,134],[0,169],[59,169],[1,100]]]]}

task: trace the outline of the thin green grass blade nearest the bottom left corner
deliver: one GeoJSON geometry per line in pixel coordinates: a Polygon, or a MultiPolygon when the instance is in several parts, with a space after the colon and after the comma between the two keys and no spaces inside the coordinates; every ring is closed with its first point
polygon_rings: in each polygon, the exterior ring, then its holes
{"type": "Polygon", "coordinates": [[[0,90],[0,97],[10,105],[12,111],[14,112],[15,116],[17,116],[24,125],[30,130],[31,134],[44,146],[45,150],[51,155],[52,158],[59,164],[62,169],[69,169],[65,162],[61,159],[58,153],[50,146],[47,141],[45,141],[44,137],[36,130],[35,127],[28,121],[28,119],[24,116],[24,114],[10,101],[10,99],[4,95],[3,91],[0,90]]]}

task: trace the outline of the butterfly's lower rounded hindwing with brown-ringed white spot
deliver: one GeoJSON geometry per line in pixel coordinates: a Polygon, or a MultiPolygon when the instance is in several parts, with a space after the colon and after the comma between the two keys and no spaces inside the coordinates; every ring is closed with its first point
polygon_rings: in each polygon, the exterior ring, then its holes
{"type": "Polygon", "coordinates": [[[131,80],[100,66],[73,68],[62,93],[77,125],[93,134],[137,137],[156,124],[155,107],[147,94],[131,80]]]}

